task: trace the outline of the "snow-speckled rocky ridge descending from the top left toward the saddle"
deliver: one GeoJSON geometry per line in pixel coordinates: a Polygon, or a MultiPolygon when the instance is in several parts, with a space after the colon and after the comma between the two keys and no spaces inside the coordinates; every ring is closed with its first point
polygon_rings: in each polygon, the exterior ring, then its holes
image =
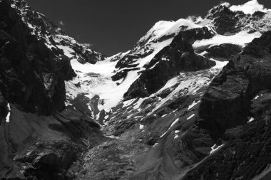
{"type": "Polygon", "coordinates": [[[68,58],[76,58],[81,63],[96,63],[98,60],[106,58],[105,55],[97,53],[67,36],[61,28],[58,28],[44,14],[32,11],[26,1],[11,0],[11,2],[14,4],[12,6],[16,14],[19,14],[24,23],[29,25],[31,33],[42,39],[53,52],[65,53],[68,58]],[[64,52],[67,49],[70,54],[64,52]]]}

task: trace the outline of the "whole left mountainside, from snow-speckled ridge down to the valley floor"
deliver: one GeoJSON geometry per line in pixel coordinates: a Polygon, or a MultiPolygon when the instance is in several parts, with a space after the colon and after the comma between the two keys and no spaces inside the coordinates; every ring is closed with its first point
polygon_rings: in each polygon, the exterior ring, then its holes
{"type": "Polygon", "coordinates": [[[0,177],[61,178],[106,139],[90,117],[65,105],[65,81],[76,77],[71,57],[94,63],[101,54],[64,36],[24,1],[0,2],[0,46],[0,177]]]}

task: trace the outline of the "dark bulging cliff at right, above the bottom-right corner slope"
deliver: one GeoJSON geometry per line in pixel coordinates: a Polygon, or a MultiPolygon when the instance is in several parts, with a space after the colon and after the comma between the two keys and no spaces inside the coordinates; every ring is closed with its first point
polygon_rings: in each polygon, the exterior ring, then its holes
{"type": "Polygon", "coordinates": [[[241,55],[230,60],[205,92],[200,105],[200,126],[220,137],[225,129],[244,125],[251,116],[252,97],[270,90],[271,32],[255,38],[241,55]],[[259,54],[260,52],[260,54],[259,54]]]}

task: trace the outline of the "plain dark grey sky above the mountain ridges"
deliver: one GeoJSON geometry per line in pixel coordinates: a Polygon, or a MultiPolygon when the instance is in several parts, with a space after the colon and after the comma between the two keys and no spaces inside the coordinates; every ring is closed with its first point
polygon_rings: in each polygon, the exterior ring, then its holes
{"type": "MultiPolygon", "coordinates": [[[[113,55],[128,51],[160,20],[205,16],[220,0],[26,0],[80,43],[113,55]]],[[[244,4],[248,0],[229,0],[244,4]]],[[[270,0],[258,0],[271,8],[270,0]]]]}

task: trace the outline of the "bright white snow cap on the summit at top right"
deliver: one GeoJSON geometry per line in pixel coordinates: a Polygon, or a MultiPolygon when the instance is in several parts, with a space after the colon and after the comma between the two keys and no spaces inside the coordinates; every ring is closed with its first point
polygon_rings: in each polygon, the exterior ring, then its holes
{"type": "Polygon", "coordinates": [[[247,3],[242,5],[230,6],[230,10],[243,11],[245,14],[254,14],[256,11],[271,11],[270,9],[266,9],[262,4],[259,4],[257,0],[248,1],[247,3]]]}

